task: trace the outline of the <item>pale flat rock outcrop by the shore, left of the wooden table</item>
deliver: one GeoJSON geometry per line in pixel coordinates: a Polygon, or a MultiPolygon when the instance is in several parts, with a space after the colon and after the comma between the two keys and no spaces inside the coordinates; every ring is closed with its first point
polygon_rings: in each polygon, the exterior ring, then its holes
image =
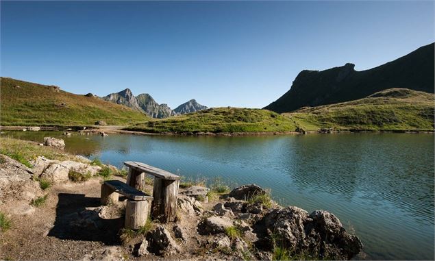
{"type": "Polygon", "coordinates": [[[75,162],[72,160],[48,160],[42,156],[36,158],[32,164],[34,165],[33,171],[36,177],[48,179],[53,183],[68,181],[70,171],[92,176],[101,171],[101,166],[92,166],[90,164],[75,162]]]}

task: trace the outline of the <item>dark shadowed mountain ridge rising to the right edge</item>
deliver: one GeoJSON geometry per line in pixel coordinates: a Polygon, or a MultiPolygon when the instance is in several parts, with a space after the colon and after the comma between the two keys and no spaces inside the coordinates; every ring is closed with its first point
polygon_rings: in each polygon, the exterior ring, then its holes
{"type": "Polygon", "coordinates": [[[434,43],[373,69],[355,71],[354,66],[301,71],[290,90],[264,109],[291,112],[306,106],[362,99],[390,88],[434,93],[434,43]]]}

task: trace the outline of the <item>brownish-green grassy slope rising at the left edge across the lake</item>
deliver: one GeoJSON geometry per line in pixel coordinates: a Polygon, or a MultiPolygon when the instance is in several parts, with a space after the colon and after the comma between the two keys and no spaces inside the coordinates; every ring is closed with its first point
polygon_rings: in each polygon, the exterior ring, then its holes
{"type": "Polygon", "coordinates": [[[45,86],[1,77],[0,124],[5,125],[129,125],[146,121],[144,114],[97,97],[74,95],[45,86]]]}

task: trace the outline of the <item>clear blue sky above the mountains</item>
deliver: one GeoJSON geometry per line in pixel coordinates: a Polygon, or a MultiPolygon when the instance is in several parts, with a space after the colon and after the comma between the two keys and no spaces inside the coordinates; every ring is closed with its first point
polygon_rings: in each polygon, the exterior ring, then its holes
{"type": "Polygon", "coordinates": [[[434,41],[434,1],[1,1],[1,75],[262,108],[303,69],[370,69],[434,41]]]}

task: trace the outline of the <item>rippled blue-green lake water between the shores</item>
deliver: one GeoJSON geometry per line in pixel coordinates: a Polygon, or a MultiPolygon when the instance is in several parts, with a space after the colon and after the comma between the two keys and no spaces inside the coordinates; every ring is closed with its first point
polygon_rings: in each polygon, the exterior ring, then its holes
{"type": "Polygon", "coordinates": [[[255,183],[284,205],[336,214],[360,237],[367,259],[434,260],[433,134],[5,135],[64,138],[66,151],[116,166],[135,160],[194,179],[255,183]]]}

